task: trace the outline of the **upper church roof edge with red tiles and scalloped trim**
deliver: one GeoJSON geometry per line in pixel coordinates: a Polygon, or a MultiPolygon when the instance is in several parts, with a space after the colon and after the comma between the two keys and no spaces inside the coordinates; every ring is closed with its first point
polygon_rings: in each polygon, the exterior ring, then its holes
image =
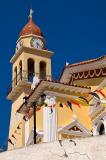
{"type": "Polygon", "coordinates": [[[72,84],[74,76],[78,80],[106,76],[106,55],[96,59],[91,59],[65,66],[63,68],[60,81],[72,84]],[[100,71],[101,69],[102,71],[100,71]]]}

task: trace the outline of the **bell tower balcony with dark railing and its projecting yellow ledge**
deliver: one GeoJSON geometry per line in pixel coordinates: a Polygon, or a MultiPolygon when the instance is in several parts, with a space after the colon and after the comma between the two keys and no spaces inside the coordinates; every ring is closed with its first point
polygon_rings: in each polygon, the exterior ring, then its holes
{"type": "Polygon", "coordinates": [[[26,93],[30,91],[31,84],[33,82],[33,77],[36,75],[40,80],[51,80],[51,75],[46,75],[45,73],[34,73],[21,71],[13,79],[12,83],[7,89],[7,99],[14,100],[23,91],[26,93]]]}

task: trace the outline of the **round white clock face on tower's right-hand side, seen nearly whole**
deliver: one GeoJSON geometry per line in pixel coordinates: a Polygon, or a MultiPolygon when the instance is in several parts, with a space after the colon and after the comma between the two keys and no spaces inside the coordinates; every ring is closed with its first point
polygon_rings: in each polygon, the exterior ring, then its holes
{"type": "Polygon", "coordinates": [[[44,43],[39,38],[32,38],[31,46],[34,47],[34,48],[43,49],[44,48],[44,43]]]}

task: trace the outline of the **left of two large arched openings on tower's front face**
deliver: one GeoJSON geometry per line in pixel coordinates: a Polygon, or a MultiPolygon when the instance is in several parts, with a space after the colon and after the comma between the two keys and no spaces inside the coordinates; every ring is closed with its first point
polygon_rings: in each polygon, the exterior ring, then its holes
{"type": "Polygon", "coordinates": [[[28,59],[28,81],[33,82],[33,76],[34,76],[34,60],[28,59]]]}

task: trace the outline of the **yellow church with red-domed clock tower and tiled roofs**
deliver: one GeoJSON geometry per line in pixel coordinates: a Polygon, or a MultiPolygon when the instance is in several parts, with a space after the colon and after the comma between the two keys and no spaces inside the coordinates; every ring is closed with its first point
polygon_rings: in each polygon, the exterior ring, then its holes
{"type": "Polygon", "coordinates": [[[52,78],[53,52],[41,29],[29,21],[11,58],[12,101],[8,150],[34,143],[106,134],[106,55],[68,64],[52,78]]]}

